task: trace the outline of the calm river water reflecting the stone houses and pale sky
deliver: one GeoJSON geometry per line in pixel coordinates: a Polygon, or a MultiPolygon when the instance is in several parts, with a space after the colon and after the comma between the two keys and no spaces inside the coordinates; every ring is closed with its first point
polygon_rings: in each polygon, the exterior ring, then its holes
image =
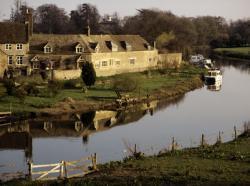
{"type": "Polygon", "coordinates": [[[92,153],[99,162],[121,160],[128,146],[146,154],[168,149],[174,137],[180,148],[197,146],[201,134],[214,143],[232,139],[250,121],[250,65],[221,65],[221,87],[204,86],[172,103],[152,102],[132,109],[39,118],[0,127],[0,173],[27,173],[35,164],[77,160],[92,153]],[[217,90],[211,90],[217,89],[217,90]]]}

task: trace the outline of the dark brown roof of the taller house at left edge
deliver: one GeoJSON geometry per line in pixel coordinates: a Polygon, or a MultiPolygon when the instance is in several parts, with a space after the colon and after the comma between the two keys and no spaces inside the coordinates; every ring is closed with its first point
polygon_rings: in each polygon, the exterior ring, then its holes
{"type": "Polygon", "coordinates": [[[0,44],[28,43],[27,26],[21,23],[0,22],[0,44]]]}

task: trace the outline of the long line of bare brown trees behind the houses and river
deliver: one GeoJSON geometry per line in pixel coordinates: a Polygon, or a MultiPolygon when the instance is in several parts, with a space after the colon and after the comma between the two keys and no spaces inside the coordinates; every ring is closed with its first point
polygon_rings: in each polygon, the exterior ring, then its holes
{"type": "Polygon", "coordinates": [[[99,14],[96,6],[82,4],[68,15],[54,4],[44,4],[35,10],[16,0],[10,21],[23,22],[26,9],[33,11],[34,31],[53,34],[139,34],[160,50],[205,53],[211,48],[250,45],[250,19],[228,23],[223,17],[179,17],[170,11],[140,9],[136,15],[120,18],[118,13],[99,14]]]}

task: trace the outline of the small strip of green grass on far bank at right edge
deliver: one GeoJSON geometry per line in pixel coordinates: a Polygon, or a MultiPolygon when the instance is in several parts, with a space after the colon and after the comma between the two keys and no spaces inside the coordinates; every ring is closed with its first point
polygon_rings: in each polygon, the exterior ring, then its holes
{"type": "Polygon", "coordinates": [[[216,48],[214,54],[222,57],[250,60],[250,47],[216,48]]]}

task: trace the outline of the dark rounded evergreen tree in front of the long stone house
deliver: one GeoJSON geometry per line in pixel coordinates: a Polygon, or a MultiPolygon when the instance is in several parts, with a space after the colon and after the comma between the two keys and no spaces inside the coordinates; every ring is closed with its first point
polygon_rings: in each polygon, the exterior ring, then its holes
{"type": "Polygon", "coordinates": [[[93,63],[87,61],[83,64],[81,77],[86,86],[90,87],[95,84],[96,72],[93,63]]]}

